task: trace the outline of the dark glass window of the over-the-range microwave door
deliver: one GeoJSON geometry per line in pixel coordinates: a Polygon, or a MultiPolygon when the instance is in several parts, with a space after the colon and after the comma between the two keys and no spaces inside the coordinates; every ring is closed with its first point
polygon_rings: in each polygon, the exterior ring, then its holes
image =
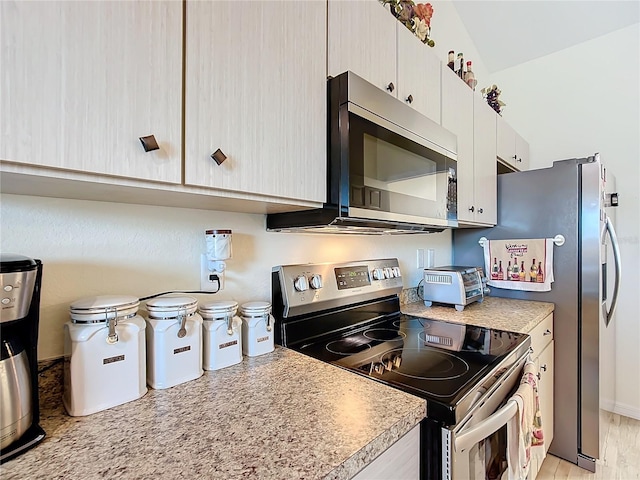
{"type": "Polygon", "coordinates": [[[424,143],[349,112],[349,206],[455,220],[456,162],[424,143]]]}

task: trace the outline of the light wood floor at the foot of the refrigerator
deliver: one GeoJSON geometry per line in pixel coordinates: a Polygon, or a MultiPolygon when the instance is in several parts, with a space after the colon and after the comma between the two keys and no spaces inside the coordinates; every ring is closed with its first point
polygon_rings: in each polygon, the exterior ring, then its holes
{"type": "Polygon", "coordinates": [[[536,480],[633,480],[640,479],[640,421],[602,410],[602,451],[596,473],[547,455],[536,480]]]}

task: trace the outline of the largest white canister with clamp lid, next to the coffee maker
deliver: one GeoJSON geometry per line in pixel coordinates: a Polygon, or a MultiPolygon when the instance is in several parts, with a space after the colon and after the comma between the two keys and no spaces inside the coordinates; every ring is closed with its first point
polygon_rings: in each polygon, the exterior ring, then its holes
{"type": "Polygon", "coordinates": [[[69,415],[89,415],[147,393],[139,305],[137,297],[128,295],[71,304],[71,321],[64,325],[63,403],[69,415]]]}

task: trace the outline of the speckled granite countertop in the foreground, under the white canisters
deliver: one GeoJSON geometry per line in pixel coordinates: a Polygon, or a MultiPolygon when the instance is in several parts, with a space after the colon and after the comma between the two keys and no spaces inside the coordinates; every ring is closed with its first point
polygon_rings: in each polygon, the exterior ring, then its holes
{"type": "Polygon", "coordinates": [[[47,438],[3,480],[347,479],[425,415],[418,397],[280,347],[86,417],[64,412],[56,370],[40,384],[47,438]]]}

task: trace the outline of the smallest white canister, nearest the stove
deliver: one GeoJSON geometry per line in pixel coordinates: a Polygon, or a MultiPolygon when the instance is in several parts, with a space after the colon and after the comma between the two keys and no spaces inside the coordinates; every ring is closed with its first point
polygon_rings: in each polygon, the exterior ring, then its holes
{"type": "Polygon", "coordinates": [[[255,357],[273,352],[273,317],[269,302],[249,302],[240,306],[242,353],[255,357]]]}

